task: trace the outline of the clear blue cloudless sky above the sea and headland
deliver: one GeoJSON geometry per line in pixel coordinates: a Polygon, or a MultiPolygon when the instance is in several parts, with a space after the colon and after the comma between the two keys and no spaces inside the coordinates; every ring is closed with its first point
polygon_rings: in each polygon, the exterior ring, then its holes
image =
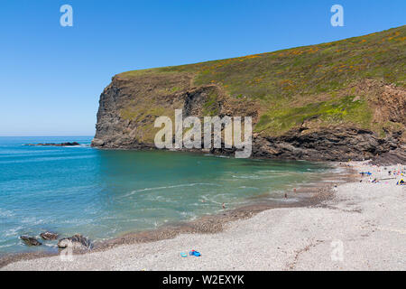
{"type": "Polygon", "coordinates": [[[332,42],[405,13],[404,0],[2,0],[0,136],[94,135],[100,93],[123,71],[332,42]]]}

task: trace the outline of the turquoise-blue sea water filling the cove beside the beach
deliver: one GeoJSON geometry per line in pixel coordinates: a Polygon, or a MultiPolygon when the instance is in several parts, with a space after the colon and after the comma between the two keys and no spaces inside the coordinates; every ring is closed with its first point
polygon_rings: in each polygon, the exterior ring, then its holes
{"type": "Polygon", "coordinates": [[[0,254],[44,230],[93,240],[196,219],[314,182],[325,164],[214,155],[104,151],[91,137],[0,137],[0,254]],[[81,146],[24,146],[77,141],[81,146]]]}

